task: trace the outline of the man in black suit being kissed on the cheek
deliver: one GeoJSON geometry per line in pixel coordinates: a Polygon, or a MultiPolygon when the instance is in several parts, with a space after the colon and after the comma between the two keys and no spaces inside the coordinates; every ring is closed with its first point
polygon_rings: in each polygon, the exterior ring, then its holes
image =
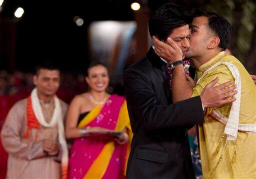
{"type": "MultiPolygon", "coordinates": [[[[182,49],[189,47],[191,22],[186,10],[164,4],[149,20],[149,33],[162,41],[171,37],[182,49]]],[[[172,56],[175,65],[180,56],[172,56]]],[[[194,178],[187,130],[203,119],[203,107],[218,106],[234,99],[218,95],[230,83],[205,86],[203,93],[172,103],[166,62],[151,47],[138,62],[124,72],[124,89],[133,138],[127,165],[127,178],[194,178]]],[[[182,62],[182,61],[181,61],[182,62]]]]}

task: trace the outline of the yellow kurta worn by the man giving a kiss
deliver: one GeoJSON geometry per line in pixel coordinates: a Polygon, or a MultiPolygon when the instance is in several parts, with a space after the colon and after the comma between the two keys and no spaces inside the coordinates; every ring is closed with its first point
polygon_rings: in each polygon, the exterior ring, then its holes
{"type": "MultiPolygon", "coordinates": [[[[255,124],[255,84],[246,69],[234,56],[225,55],[221,51],[208,62],[200,65],[196,72],[196,80],[210,66],[220,61],[234,64],[240,72],[239,124],[255,124]]],[[[205,73],[201,81],[193,88],[192,96],[199,95],[202,92],[202,87],[215,77],[219,78],[218,83],[220,84],[228,80],[234,81],[228,67],[221,64],[205,73]]],[[[203,176],[212,176],[213,178],[256,178],[256,135],[238,131],[237,139],[234,141],[226,140],[226,134],[223,134],[225,124],[217,120],[217,116],[212,114],[214,109],[205,109],[205,122],[198,126],[203,176]]],[[[231,104],[217,107],[217,109],[222,115],[228,117],[231,104]]]]}

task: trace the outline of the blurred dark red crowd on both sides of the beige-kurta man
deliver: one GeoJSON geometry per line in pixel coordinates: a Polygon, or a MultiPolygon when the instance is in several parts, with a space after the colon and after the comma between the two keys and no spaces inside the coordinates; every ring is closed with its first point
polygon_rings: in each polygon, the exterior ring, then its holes
{"type": "MultiPolygon", "coordinates": [[[[19,99],[27,97],[33,89],[33,74],[16,71],[0,71],[0,127],[10,107],[19,99]]],[[[84,75],[61,73],[57,96],[69,103],[74,95],[87,91],[84,75]]]]}

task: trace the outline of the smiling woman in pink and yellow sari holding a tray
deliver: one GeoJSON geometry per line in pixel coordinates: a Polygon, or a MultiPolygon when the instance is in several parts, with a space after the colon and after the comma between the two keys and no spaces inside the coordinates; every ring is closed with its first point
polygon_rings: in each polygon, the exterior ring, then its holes
{"type": "Polygon", "coordinates": [[[126,101],[106,92],[109,77],[103,64],[92,63],[85,80],[90,90],[72,99],[66,118],[66,137],[74,138],[68,176],[124,178],[132,135],[126,101]]]}

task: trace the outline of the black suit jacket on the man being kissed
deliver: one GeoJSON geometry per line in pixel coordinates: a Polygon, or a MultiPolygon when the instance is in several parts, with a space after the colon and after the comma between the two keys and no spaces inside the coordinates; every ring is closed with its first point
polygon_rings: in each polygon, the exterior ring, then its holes
{"type": "Polygon", "coordinates": [[[127,178],[194,178],[187,129],[204,121],[201,100],[173,104],[165,65],[150,48],[124,72],[134,134],[127,178]]]}

